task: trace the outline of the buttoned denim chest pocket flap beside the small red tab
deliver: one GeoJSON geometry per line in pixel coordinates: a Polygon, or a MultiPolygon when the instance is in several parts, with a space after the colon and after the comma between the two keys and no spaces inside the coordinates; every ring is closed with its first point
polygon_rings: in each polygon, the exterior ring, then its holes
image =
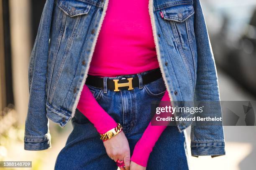
{"type": "Polygon", "coordinates": [[[167,7],[162,9],[161,12],[165,20],[173,20],[180,23],[184,22],[185,20],[187,20],[187,18],[195,13],[192,4],[167,7]]]}

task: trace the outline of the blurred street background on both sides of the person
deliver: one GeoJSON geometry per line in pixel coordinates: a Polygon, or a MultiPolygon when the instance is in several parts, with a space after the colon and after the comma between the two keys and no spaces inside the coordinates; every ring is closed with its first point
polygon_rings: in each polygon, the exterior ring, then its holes
{"type": "MultiPolygon", "coordinates": [[[[28,63],[44,3],[0,0],[0,161],[33,161],[33,170],[54,169],[56,157],[72,130],[70,122],[64,128],[50,122],[52,148],[23,149],[28,63]]],[[[201,3],[217,65],[220,99],[256,100],[256,1],[201,3]]],[[[189,143],[190,130],[186,131],[189,143]]],[[[189,153],[192,170],[256,169],[256,127],[225,126],[224,133],[226,155],[195,158],[189,153]]]]}

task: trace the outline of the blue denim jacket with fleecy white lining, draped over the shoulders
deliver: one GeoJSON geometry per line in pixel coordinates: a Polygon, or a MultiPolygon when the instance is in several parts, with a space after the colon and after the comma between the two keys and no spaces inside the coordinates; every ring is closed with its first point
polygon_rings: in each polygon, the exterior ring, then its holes
{"type": "MultiPolygon", "coordinates": [[[[51,147],[49,119],[64,127],[74,117],[107,7],[108,0],[46,0],[28,69],[26,150],[51,147]]],[[[172,105],[184,107],[176,101],[219,101],[200,1],[149,0],[148,9],[172,105]]],[[[220,104],[210,112],[221,116],[220,104]]],[[[193,156],[225,155],[223,126],[177,121],[179,132],[189,125],[193,156]]]]}

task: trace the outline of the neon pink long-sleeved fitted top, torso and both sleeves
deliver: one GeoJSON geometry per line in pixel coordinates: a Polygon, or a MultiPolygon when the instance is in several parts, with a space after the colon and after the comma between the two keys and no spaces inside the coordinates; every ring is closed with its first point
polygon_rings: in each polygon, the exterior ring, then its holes
{"type": "MultiPolygon", "coordinates": [[[[110,0],[88,74],[115,77],[157,67],[159,63],[148,13],[148,0],[110,0]]],[[[167,92],[163,100],[170,101],[167,92]]],[[[105,133],[116,126],[115,120],[100,107],[87,85],[83,87],[77,108],[94,124],[99,133],[105,133]]],[[[165,128],[166,126],[151,126],[149,123],[133,150],[131,160],[146,167],[152,148],[165,128]]]]}

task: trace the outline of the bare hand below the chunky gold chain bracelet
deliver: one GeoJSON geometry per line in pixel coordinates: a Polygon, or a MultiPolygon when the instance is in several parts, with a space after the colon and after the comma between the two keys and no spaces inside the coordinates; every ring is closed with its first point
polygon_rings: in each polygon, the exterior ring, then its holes
{"type": "Polygon", "coordinates": [[[127,138],[123,131],[103,142],[108,156],[115,162],[123,160],[125,170],[130,168],[130,148],[127,138]]]}

